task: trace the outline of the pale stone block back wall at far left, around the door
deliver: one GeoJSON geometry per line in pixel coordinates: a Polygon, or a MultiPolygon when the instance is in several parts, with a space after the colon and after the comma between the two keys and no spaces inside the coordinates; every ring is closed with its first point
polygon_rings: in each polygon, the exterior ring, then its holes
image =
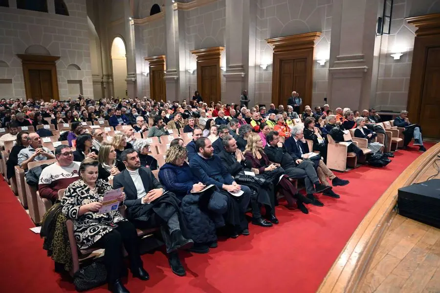
{"type": "Polygon", "coordinates": [[[25,98],[21,60],[30,45],[45,47],[57,62],[60,99],[68,94],[68,80],[82,81],[83,94],[93,98],[86,0],[65,0],[70,16],[49,14],[16,8],[0,7],[0,79],[13,80],[14,98],[25,98]],[[81,70],[67,69],[69,64],[81,70]]]}

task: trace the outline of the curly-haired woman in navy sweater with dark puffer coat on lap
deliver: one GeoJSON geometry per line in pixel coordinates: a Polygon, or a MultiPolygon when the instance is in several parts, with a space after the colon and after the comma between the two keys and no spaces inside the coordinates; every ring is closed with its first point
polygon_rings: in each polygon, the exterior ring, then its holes
{"type": "Polygon", "coordinates": [[[186,158],[185,147],[171,146],[165,154],[166,164],[159,170],[159,181],[182,201],[181,209],[194,241],[190,251],[206,253],[217,247],[216,228],[224,226],[222,214],[227,211],[227,202],[215,186],[210,188],[198,182],[186,158]]]}

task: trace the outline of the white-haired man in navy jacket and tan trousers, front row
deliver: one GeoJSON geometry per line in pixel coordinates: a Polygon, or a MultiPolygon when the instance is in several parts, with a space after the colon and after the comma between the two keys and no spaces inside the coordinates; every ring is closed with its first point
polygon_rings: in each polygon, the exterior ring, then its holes
{"type": "MultiPolygon", "coordinates": [[[[322,185],[330,186],[327,178],[331,180],[331,184],[333,186],[344,186],[350,183],[348,180],[343,180],[336,177],[336,175],[334,175],[333,172],[330,171],[330,169],[326,166],[324,161],[321,159],[321,156],[317,155],[311,158],[308,157],[308,153],[310,151],[306,139],[304,138],[303,126],[293,126],[291,136],[286,139],[285,146],[287,152],[292,155],[292,157],[301,158],[302,160],[310,160],[313,162],[313,164],[316,166],[316,173],[318,174],[322,185]]],[[[339,195],[334,193],[332,189],[329,189],[323,194],[333,198],[339,198],[339,195]]]]}

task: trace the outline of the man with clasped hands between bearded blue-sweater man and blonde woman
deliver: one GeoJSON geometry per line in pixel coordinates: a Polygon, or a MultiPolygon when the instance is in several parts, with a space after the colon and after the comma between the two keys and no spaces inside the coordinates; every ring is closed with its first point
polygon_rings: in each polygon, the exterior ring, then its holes
{"type": "MultiPolygon", "coordinates": [[[[237,178],[240,178],[240,176],[236,176],[244,174],[244,170],[258,174],[258,169],[252,168],[250,162],[244,159],[242,151],[237,147],[237,142],[231,135],[224,136],[222,143],[222,150],[218,154],[221,163],[228,172],[236,178],[236,180],[237,178]]],[[[256,176],[253,176],[252,178],[255,178],[256,176]]],[[[278,219],[275,217],[275,195],[273,184],[270,183],[264,187],[261,186],[258,181],[252,181],[252,178],[248,177],[246,179],[249,179],[249,181],[243,180],[242,182],[239,182],[242,185],[249,187],[252,191],[250,200],[252,207],[252,224],[261,227],[272,227],[272,223],[279,223],[278,219]],[[262,218],[260,212],[261,205],[266,207],[266,219],[270,222],[262,218]]]]}

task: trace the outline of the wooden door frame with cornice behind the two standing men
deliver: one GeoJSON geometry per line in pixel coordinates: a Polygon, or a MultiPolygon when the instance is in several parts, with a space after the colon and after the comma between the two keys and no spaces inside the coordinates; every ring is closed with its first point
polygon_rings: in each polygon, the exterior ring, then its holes
{"type": "MultiPolygon", "coordinates": [[[[300,93],[303,99],[302,110],[305,105],[311,105],[313,93],[313,52],[315,40],[321,35],[320,32],[311,32],[287,37],[267,39],[266,42],[272,45],[272,103],[276,106],[281,104],[281,62],[283,60],[306,59],[306,92],[300,93]]],[[[295,89],[292,89],[292,91],[295,89]]],[[[286,105],[284,105],[286,107],[286,105]]]]}

